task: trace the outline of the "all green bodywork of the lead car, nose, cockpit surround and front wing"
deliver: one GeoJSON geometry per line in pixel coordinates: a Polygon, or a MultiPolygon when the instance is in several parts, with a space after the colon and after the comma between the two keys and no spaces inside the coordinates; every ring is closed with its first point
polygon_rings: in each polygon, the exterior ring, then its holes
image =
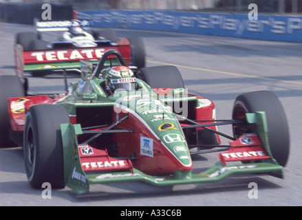
{"type": "MultiPolygon", "coordinates": [[[[83,81],[80,83],[86,84],[85,82],[89,82],[89,77],[87,79],[83,79],[83,81]]],[[[140,118],[142,118],[144,122],[146,122],[147,125],[153,130],[153,132],[158,135],[162,142],[164,142],[163,135],[166,133],[160,133],[158,131],[158,127],[163,122],[170,122],[170,120],[173,120],[174,122],[177,121],[175,115],[173,115],[172,111],[167,108],[166,105],[166,103],[171,100],[169,100],[169,98],[166,98],[165,100],[160,99],[158,94],[156,94],[151,87],[149,87],[142,80],[138,79],[137,82],[142,88],[139,93],[136,92],[132,94],[131,92],[127,92],[113,94],[107,97],[104,94],[104,91],[99,87],[100,83],[102,83],[102,79],[92,78],[89,83],[89,85],[91,85],[89,91],[91,92],[87,94],[87,96],[85,96],[86,94],[81,93],[81,91],[78,91],[79,85],[78,83],[75,83],[72,85],[72,92],[74,94],[72,96],[67,96],[65,99],[60,100],[60,102],[66,107],[70,115],[74,115],[76,113],[76,107],[85,107],[87,105],[102,107],[112,106],[122,107],[128,110],[130,109],[130,112],[139,115],[140,118]],[[146,107],[154,106],[155,104],[158,109],[155,112],[153,112],[153,109],[147,109],[149,113],[146,114],[146,109],[144,109],[144,111],[140,111],[140,107],[143,107],[143,104],[146,104],[146,107]],[[151,123],[151,120],[154,120],[155,115],[158,115],[159,113],[164,115],[164,119],[151,123]]],[[[198,100],[194,96],[180,97],[180,99],[196,102],[196,106],[198,106],[198,100]]],[[[272,158],[268,144],[268,129],[265,113],[247,113],[246,118],[248,123],[257,124],[257,133],[259,134],[261,142],[263,143],[267,153],[272,158]]],[[[274,159],[269,159],[266,162],[228,166],[224,166],[221,162],[217,162],[202,173],[194,173],[193,170],[184,172],[176,171],[173,173],[173,175],[166,176],[147,175],[136,168],[133,168],[133,172],[89,174],[83,171],[80,164],[80,157],[78,155],[78,142],[76,135],[83,133],[80,124],[61,124],[61,132],[63,137],[65,184],[78,194],[88,192],[90,184],[107,184],[120,181],[144,181],[155,186],[170,186],[176,184],[196,184],[202,182],[219,181],[225,177],[228,177],[229,175],[242,173],[270,173],[278,175],[279,177],[283,176],[283,166],[279,166],[274,159]]],[[[182,137],[184,137],[178,122],[175,123],[175,129],[170,129],[169,132],[179,133],[182,135],[182,137]]],[[[175,157],[185,158],[180,159],[184,165],[191,163],[191,157],[189,155],[190,153],[188,151],[188,147],[186,146],[186,142],[177,142],[176,144],[177,146],[180,146],[181,144],[187,149],[187,151],[183,152],[181,155],[175,155],[175,157]],[[186,157],[188,157],[188,159],[186,159],[186,157]]],[[[166,144],[166,146],[169,149],[174,147],[173,144],[166,144]]]]}

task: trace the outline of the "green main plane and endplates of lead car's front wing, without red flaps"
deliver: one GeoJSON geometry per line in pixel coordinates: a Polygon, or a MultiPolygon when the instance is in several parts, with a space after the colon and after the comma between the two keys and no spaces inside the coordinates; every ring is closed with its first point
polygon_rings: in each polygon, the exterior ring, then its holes
{"type": "MultiPolygon", "coordinates": [[[[259,136],[264,143],[266,151],[271,156],[267,140],[265,113],[248,113],[247,118],[249,123],[257,123],[259,136]]],[[[144,181],[155,186],[172,186],[177,184],[197,184],[219,181],[229,175],[246,173],[270,173],[283,177],[283,166],[277,164],[274,159],[269,159],[267,162],[228,166],[224,166],[221,162],[217,162],[202,173],[193,173],[193,170],[186,172],[176,171],[173,175],[166,176],[146,175],[136,168],[133,169],[133,173],[85,174],[80,166],[76,142],[76,135],[82,133],[80,125],[61,124],[61,131],[63,137],[65,184],[79,194],[88,192],[89,184],[107,184],[121,181],[144,181]],[[73,177],[75,171],[76,175],[78,175],[77,179],[73,177]]]]}

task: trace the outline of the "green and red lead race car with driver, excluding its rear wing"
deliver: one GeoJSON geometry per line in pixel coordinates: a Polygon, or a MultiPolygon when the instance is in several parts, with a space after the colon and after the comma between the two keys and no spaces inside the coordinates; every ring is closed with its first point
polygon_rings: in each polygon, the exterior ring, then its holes
{"type": "Polygon", "coordinates": [[[217,120],[215,104],[188,94],[176,67],[130,69],[116,50],[96,66],[81,65],[81,79],[64,96],[25,96],[17,76],[0,78],[0,145],[23,146],[34,188],[49,182],[84,193],[90,184],[120,181],[171,186],[242,173],[283,177],[290,139],[272,92],[241,94],[232,118],[217,120]],[[218,131],[225,124],[232,136],[218,131]],[[217,162],[196,172],[191,155],[213,152],[217,162]]]}

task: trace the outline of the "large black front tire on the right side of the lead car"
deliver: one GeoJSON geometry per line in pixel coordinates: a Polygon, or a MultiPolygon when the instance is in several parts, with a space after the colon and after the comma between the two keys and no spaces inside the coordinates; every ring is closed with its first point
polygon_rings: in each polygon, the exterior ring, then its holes
{"type": "MultiPolygon", "coordinates": [[[[288,121],[281,102],[271,91],[253,91],[238,96],[233,106],[233,119],[245,120],[245,113],[266,112],[268,123],[268,142],[272,156],[279,165],[285,166],[290,153],[290,134],[288,121]]],[[[256,132],[255,124],[233,126],[235,138],[246,132],[256,132]]]]}

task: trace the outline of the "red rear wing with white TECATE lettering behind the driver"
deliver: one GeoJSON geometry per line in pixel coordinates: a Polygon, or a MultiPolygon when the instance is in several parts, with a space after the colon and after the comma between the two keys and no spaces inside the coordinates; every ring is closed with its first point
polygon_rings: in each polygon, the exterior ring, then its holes
{"type": "Polygon", "coordinates": [[[116,45],[104,47],[74,47],[69,49],[47,49],[24,51],[22,45],[14,46],[16,75],[23,78],[23,72],[45,70],[80,69],[80,61],[98,60],[107,50],[117,50],[127,65],[131,63],[131,47],[128,39],[120,39],[116,45]]]}

